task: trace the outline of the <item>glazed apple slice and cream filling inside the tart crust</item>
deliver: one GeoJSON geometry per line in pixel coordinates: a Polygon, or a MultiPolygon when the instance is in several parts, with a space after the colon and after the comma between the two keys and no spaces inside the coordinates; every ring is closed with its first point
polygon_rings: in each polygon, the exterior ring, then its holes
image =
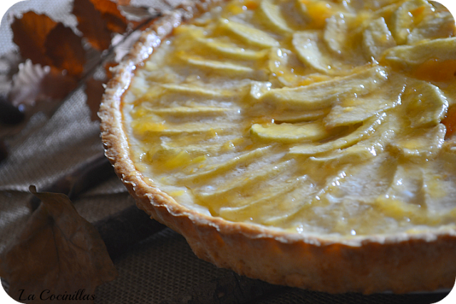
{"type": "Polygon", "coordinates": [[[125,130],[151,185],[228,221],[344,237],[455,228],[442,123],[455,72],[455,19],[436,1],[233,0],[136,70],[125,130]]]}

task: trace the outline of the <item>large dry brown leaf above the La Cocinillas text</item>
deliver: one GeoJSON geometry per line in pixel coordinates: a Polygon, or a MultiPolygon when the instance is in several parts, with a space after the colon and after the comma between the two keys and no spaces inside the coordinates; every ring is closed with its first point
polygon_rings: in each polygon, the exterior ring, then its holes
{"type": "Polygon", "coordinates": [[[30,191],[43,204],[0,256],[9,296],[20,303],[93,303],[95,288],[117,276],[100,234],[68,196],[30,191]]]}

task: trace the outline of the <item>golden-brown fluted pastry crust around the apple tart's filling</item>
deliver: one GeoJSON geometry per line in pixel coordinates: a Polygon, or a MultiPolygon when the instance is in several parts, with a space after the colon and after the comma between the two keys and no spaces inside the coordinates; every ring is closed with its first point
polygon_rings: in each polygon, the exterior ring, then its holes
{"type": "Polygon", "coordinates": [[[456,279],[456,231],[325,239],[206,216],[150,187],[129,157],[121,98],[140,65],[175,26],[217,0],[183,4],[145,31],[118,66],[100,106],[105,154],[138,207],[187,239],[205,261],[275,284],[329,293],[395,293],[452,288],[456,279]]]}

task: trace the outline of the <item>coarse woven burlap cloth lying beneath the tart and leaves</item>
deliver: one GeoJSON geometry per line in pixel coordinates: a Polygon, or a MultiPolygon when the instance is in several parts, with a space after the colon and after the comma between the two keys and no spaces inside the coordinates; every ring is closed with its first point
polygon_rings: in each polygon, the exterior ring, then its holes
{"type": "MultiPolygon", "coordinates": [[[[154,1],[154,0],[152,0],[154,1]]],[[[180,0],[157,2],[166,7],[180,0]]],[[[132,1],[140,4],[141,1],[132,1]]],[[[23,0],[11,6],[1,19],[0,55],[14,50],[6,16],[33,10],[67,26],[76,26],[70,14],[71,0],[23,0]]],[[[98,122],[90,121],[83,88],[71,95],[51,117],[35,115],[26,128],[6,143],[10,156],[0,164],[0,252],[24,226],[31,214],[28,187],[43,187],[101,152],[98,122]]],[[[134,204],[123,184],[113,178],[73,201],[88,221],[97,221],[134,204]]],[[[142,241],[115,261],[119,276],[101,285],[95,303],[160,303],[191,294],[209,281],[232,272],[199,260],[185,239],[165,229],[142,241]]],[[[343,273],[338,274],[343,276],[343,273]]],[[[4,288],[7,282],[0,279],[4,288]]],[[[432,294],[363,296],[357,293],[329,295],[297,288],[281,288],[252,300],[254,303],[432,303],[432,294]]],[[[184,297],[185,298],[185,297],[184,297]]],[[[252,303],[251,302],[251,303],[252,303]]]]}

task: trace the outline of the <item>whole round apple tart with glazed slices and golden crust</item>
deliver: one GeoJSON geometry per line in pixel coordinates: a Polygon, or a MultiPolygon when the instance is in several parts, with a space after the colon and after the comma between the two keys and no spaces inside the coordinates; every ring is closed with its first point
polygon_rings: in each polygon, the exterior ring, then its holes
{"type": "Polygon", "coordinates": [[[118,66],[103,143],[140,209],[219,267],[452,288],[455,72],[437,1],[185,2],[118,66]]]}

